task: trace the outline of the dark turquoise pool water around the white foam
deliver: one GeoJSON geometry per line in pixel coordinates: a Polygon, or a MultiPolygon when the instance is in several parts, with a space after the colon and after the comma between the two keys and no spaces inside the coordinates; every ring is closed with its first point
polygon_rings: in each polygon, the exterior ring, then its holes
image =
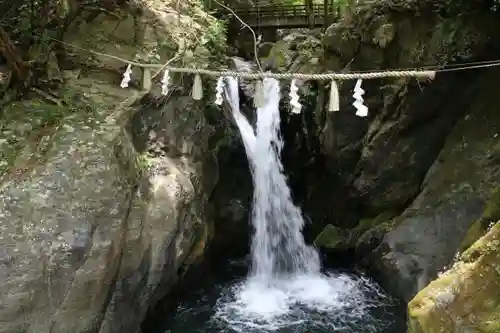
{"type": "MultiPolygon", "coordinates": [[[[185,295],[175,311],[148,333],[404,333],[404,309],[360,272],[332,269],[325,272],[339,284],[338,307],[315,309],[291,304],[286,313],[269,318],[238,311],[236,298],[247,283],[247,268],[232,261],[200,276],[200,286],[185,295]],[[343,286],[354,283],[354,294],[343,286]],[[235,306],[236,305],[236,306],[235,306]],[[246,316],[246,317],[245,317],[246,316]]],[[[264,295],[258,295],[264,296],[264,295]]],[[[331,296],[331,295],[330,295],[331,296]]],[[[269,306],[267,302],[257,306],[269,306]]]]}

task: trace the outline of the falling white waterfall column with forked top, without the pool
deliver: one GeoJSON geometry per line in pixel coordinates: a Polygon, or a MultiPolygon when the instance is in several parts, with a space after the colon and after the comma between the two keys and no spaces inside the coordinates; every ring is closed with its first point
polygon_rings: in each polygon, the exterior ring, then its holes
{"type": "Polygon", "coordinates": [[[228,78],[226,94],[240,129],[254,184],[252,224],[252,272],[262,281],[297,275],[319,274],[317,251],[305,244],[304,219],[293,204],[280,160],[280,87],[264,79],[266,104],[257,109],[256,130],[240,112],[238,82],[228,78]]]}

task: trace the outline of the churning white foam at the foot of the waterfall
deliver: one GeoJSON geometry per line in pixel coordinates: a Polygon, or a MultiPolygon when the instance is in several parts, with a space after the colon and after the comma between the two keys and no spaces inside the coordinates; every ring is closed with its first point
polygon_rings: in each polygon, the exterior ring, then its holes
{"type": "MultiPolygon", "coordinates": [[[[253,277],[219,298],[213,319],[238,332],[275,331],[303,323],[349,330],[359,322],[376,322],[370,311],[389,304],[373,283],[347,274],[272,281],[253,277]]],[[[373,332],[376,329],[374,326],[373,332]]],[[[372,330],[366,328],[365,332],[372,330]]]]}

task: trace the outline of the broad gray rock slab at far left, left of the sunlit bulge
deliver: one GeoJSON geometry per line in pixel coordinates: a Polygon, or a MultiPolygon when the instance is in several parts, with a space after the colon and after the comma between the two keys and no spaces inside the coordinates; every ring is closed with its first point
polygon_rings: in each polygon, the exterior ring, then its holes
{"type": "MultiPolygon", "coordinates": [[[[0,247],[9,261],[0,270],[1,332],[99,327],[116,283],[133,195],[129,174],[114,157],[115,147],[133,153],[116,123],[118,110],[69,117],[44,161],[4,178],[0,247]]],[[[131,156],[124,161],[133,163],[131,156]]]]}

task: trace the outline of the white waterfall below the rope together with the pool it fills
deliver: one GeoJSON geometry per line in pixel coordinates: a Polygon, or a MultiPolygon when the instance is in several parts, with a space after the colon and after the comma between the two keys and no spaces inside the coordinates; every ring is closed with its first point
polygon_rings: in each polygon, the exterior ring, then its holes
{"type": "Polygon", "coordinates": [[[183,302],[163,329],[175,333],[402,332],[394,301],[374,282],[354,272],[322,271],[318,252],[304,241],[304,220],[291,199],[280,161],[278,81],[264,80],[266,105],[256,111],[255,130],[240,112],[238,82],[227,78],[226,83],[254,182],[250,269],[246,276],[215,279],[208,289],[183,302]]]}

